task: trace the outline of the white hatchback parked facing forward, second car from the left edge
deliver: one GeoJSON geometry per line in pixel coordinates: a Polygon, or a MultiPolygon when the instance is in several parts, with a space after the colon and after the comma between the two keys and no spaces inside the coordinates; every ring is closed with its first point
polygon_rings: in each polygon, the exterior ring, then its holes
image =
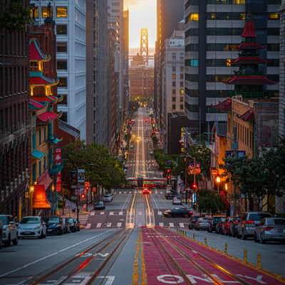
{"type": "Polygon", "coordinates": [[[46,223],[38,216],[23,217],[19,222],[18,237],[19,239],[24,237],[45,238],[46,223]]]}

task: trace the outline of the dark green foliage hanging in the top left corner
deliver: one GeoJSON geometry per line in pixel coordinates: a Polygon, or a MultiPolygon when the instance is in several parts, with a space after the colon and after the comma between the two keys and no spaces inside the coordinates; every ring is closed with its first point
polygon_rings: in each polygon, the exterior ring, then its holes
{"type": "Polygon", "coordinates": [[[11,31],[26,30],[26,24],[30,22],[29,7],[24,7],[23,1],[11,0],[10,5],[0,12],[0,26],[11,31]]]}

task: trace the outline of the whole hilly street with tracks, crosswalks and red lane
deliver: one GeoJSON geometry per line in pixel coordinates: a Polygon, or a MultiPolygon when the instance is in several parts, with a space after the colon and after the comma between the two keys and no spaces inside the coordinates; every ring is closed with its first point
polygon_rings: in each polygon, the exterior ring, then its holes
{"type": "MultiPolygon", "coordinates": [[[[139,109],[134,120],[128,177],[162,177],[150,153],[147,112],[139,109]]],[[[105,209],[90,210],[81,232],[4,247],[0,284],[284,284],[274,275],[284,275],[284,245],[189,230],[188,217],[163,216],[186,207],[165,199],[165,191],[116,189],[105,209]],[[205,238],[220,252],[204,247],[205,238]],[[224,254],[225,243],[240,261],[224,254]],[[272,273],[242,262],[244,249],[249,263],[261,254],[261,267],[272,273]]]]}

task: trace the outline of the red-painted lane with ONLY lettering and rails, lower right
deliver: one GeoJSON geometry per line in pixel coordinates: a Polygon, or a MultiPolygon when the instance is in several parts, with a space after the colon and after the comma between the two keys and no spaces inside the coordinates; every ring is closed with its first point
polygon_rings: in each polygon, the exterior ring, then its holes
{"type": "Polygon", "coordinates": [[[284,279],[160,227],[142,228],[147,284],[279,285],[284,279]]]}

